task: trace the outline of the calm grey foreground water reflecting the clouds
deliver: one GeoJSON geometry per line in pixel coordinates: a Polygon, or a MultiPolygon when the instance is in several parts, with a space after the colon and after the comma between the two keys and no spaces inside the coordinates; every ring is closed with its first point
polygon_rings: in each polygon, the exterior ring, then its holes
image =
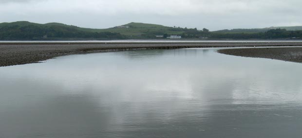
{"type": "Polygon", "coordinates": [[[301,138],[302,64],[213,49],[0,68],[0,138],[301,138]]]}

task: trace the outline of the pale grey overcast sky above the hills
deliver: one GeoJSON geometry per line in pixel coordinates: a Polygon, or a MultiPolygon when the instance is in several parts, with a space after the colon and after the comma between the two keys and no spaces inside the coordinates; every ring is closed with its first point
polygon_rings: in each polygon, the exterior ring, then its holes
{"type": "Polygon", "coordinates": [[[129,22],[211,31],[302,25],[302,0],[0,0],[0,22],[109,28],[129,22]]]}

